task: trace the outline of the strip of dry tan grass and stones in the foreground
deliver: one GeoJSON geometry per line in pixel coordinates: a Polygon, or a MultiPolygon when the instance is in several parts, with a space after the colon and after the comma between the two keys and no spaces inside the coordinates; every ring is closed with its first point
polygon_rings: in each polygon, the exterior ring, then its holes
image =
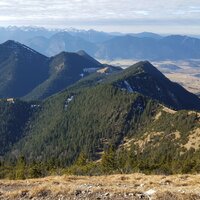
{"type": "Polygon", "coordinates": [[[4,199],[200,199],[200,175],[52,176],[22,181],[0,180],[4,199]]]}

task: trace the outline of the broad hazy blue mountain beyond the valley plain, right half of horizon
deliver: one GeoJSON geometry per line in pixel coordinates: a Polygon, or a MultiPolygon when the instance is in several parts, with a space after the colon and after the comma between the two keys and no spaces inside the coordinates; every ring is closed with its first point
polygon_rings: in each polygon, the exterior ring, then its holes
{"type": "Polygon", "coordinates": [[[101,43],[95,57],[101,59],[178,60],[197,59],[200,40],[188,36],[171,35],[160,39],[117,36],[101,43]]]}

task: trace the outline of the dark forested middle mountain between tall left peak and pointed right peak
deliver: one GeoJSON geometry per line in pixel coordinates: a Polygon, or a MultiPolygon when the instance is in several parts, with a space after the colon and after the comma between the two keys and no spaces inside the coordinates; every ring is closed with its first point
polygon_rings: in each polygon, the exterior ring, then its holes
{"type": "Polygon", "coordinates": [[[88,54],[62,52],[49,60],[49,77],[24,99],[44,99],[72,85],[102,65],[88,54]]]}

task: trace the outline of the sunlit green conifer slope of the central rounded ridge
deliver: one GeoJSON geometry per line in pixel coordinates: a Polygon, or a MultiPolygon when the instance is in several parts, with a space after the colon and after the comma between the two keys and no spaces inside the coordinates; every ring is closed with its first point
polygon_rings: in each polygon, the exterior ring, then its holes
{"type": "Polygon", "coordinates": [[[105,144],[119,145],[151,120],[158,103],[102,84],[49,98],[28,136],[17,146],[30,159],[49,157],[69,164],[81,151],[91,158],[105,144]],[[73,96],[73,100],[67,103],[73,96]]]}

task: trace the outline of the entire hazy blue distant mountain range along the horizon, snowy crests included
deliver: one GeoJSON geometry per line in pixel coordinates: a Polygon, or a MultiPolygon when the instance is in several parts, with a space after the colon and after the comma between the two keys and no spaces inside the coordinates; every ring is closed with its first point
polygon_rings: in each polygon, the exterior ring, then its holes
{"type": "Polygon", "coordinates": [[[161,36],[143,32],[112,34],[94,30],[47,30],[32,27],[0,28],[0,41],[16,40],[54,56],[61,51],[85,50],[99,59],[200,59],[200,39],[182,35],[161,36]]]}

